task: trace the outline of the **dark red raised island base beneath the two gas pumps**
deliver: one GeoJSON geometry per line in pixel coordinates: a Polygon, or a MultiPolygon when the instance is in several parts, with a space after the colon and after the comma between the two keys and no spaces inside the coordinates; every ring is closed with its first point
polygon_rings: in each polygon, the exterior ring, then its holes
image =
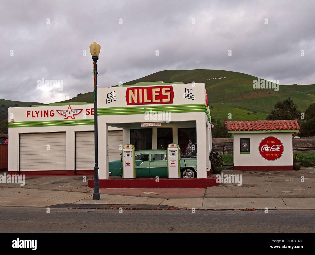
{"type": "MultiPolygon", "coordinates": [[[[168,179],[159,178],[156,182],[155,178],[136,178],[136,179],[100,179],[100,188],[206,188],[219,186],[216,183],[217,178],[180,178],[168,179]]],[[[94,187],[94,179],[88,181],[90,188],[94,187]]]]}

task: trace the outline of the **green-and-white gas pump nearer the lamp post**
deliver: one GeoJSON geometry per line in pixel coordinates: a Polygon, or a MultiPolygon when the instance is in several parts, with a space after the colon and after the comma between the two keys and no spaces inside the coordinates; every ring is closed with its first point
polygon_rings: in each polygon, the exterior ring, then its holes
{"type": "Polygon", "coordinates": [[[123,146],[123,179],[134,179],[135,170],[135,146],[127,144],[123,146]]]}

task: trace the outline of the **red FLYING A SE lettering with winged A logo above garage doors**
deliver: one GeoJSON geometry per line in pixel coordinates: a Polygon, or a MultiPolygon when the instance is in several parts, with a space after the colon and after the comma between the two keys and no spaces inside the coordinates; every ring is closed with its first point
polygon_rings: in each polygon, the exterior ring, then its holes
{"type": "Polygon", "coordinates": [[[72,107],[76,106],[58,106],[61,110],[33,110],[26,111],[26,118],[39,118],[39,117],[54,117],[55,113],[58,113],[64,116],[64,119],[75,119],[75,116],[81,112],[85,115],[94,115],[94,108],[87,108],[83,111],[83,109],[72,109],[72,107]]]}

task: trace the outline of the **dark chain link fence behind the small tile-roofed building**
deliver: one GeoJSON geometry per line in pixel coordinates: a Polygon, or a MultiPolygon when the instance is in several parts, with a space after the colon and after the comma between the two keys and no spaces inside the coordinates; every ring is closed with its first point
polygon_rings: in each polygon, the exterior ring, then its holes
{"type": "MultiPolygon", "coordinates": [[[[213,142],[212,149],[219,152],[223,159],[223,165],[233,165],[233,143],[232,142],[213,142]]],[[[293,155],[297,154],[301,159],[302,166],[315,166],[315,148],[293,148],[293,155]]]]}

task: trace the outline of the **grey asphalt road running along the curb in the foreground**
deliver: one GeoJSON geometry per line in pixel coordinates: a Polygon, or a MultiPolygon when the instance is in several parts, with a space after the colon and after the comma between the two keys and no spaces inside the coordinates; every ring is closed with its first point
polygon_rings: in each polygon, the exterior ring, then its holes
{"type": "Polygon", "coordinates": [[[314,233],[314,211],[89,210],[0,207],[1,233],[314,233]]]}

